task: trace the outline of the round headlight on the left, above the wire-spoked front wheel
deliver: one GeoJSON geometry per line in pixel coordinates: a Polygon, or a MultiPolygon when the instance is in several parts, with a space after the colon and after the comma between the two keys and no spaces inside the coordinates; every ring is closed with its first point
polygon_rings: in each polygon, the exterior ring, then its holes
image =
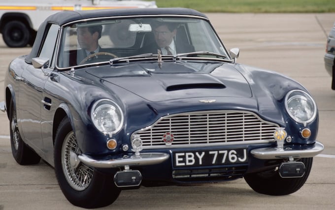
{"type": "Polygon", "coordinates": [[[91,118],[100,132],[109,135],[117,133],[123,124],[121,108],[108,99],[101,99],[94,103],[91,118]]]}

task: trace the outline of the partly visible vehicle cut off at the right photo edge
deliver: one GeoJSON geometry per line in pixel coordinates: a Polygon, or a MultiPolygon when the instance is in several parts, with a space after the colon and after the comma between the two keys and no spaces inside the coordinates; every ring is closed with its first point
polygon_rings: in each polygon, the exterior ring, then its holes
{"type": "Polygon", "coordinates": [[[324,60],[326,70],[332,77],[332,90],[335,90],[335,23],[327,39],[324,60]]]}

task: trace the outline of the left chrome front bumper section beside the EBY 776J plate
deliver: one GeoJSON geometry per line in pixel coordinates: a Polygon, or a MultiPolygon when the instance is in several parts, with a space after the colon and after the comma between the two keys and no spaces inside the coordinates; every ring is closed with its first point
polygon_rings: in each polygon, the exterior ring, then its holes
{"type": "Polygon", "coordinates": [[[167,153],[140,153],[138,156],[110,160],[96,160],[85,154],[78,156],[79,160],[87,166],[95,168],[118,168],[123,166],[154,165],[164,162],[170,157],[167,153]]]}

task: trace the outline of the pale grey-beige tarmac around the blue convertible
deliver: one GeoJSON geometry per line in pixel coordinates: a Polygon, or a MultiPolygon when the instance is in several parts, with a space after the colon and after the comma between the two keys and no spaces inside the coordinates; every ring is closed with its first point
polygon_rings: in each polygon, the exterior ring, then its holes
{"type": "MultiPolygon", "coordinates": [[[[287,196],[254,192],[243,179],[192,186],[140,187],[122,191],[114,210],[334,210],[335,209],[335,90],[323,56],[335,13],[207,14],[228,49],[238,47],[237,62],[283,73],[305,86],[316,99],[318,141],[325,150],[314,158],[302,188],[287,196]]],[[[10,60],[31,48],[7,48],[0,37],[0,101],[10,60]]],[[[0,210],[75,210],[61,192],[53,168],[41,161],[18,165],[11,154],[9,121],[0,112],[0,210]]]]}

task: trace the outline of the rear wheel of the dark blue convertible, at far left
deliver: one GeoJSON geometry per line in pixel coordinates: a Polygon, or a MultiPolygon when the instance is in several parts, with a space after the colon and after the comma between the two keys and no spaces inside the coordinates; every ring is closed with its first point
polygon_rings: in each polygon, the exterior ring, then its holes
{"type": "Polygon", "coordinates": [[[20,165],[37,164],[40,161],[38,156],[31,148],[29,148],[22,140],[17,124],[16,109],[13,100],[9,105],[9,130],[10,145],[12,154],[16,162],[20,165]]]}

